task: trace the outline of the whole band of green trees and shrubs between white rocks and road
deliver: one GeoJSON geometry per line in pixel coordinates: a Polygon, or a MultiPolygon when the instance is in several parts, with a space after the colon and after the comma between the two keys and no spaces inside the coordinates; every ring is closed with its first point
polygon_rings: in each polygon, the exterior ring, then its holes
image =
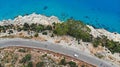
{"type": "MultiPolygon", "coordinates": [[[[91,42],[93,43],[94,47],[105,46],[108,48],[112,53],[120,53],[120,43],[115,42],[113,40],[109,40],[105,36],[94,38],[90,34],[90,29],[84,24],[82,21],[77,21],[74,19],[68,19],[67,21],[63,23],[53,23],[52,25],[42,25],[37,23],[24,23],[20,26],[14,26],[13,24],[10,25],[4,25],[0,26],[0,33],[6,33],[12,34],[14,33],[14,30],[20,31],[27,31],[29,34],[31,32],[34,32],[35,35],[31,35],[31,37],[38,37],[39,33],[42,33],[43,35],[47,35],[47,31],[53,32],[51,37],[57,36],[63,36],[63,35],[69,35],[72,37],[75,37],[76,40],[79,41],[82,40],[84,42],[91,42]]],[[[3,38],[14,36],[3,36],[3,38]]],[[[29,37],[28,37],[29,38],[29,37]]]]}

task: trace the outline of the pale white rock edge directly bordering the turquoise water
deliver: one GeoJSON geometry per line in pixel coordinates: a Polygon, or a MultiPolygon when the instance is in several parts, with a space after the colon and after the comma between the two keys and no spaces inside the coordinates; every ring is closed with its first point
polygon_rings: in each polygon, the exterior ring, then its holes
{"type": "MultiPolygon", "coordinates": [[[[15,24],[15,25],[23,25],[24,23],[38,23],[42,25],[52,25],[52,23],[62,23],[63,21],[60,21],[58,17],[56,16],[50,16],[47,17],[45,15],[41,14],[30,14],[30,15],[25,15],[25,16],[17,16],[14,18],[14,20],[8,19],[8,20],[2,20],[0,21],[0,25],[9,25],[9,24],[15,24]]],[[[108,37],[108,39],[120,42],[120,34],[117,32],[109,32],[108,30],[101,29],[101,28],[94,28],[93,26],[86,25],[91,29],[90,34],[92,34],[95,38],[101,35],[105,35],[108,37]]]]}

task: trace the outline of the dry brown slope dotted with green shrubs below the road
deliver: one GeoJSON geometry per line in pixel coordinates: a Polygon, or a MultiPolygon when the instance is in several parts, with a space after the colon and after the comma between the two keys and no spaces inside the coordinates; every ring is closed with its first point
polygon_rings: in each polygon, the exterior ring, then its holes
{"type": "MultiPolygon", "coordinates": [[[[61,58],[61,56],[56,56],[58,58],[54,58],[54,55],[56,55],[56,53],[54,54],[51,52],[47,52],[49,54],[40,54],[43,51],[39,49],[8,47],[1,48],[0,51],[3,52],[3,57],[0,57],[0,67],[77,67],[77,65],[79,64],[78,61],[71,61],[72,59],[75,60],[74,58],[67,57],[65,59],[66,56],[63,57],[61,60],[59,59],[61,58]],[[21,51],[24,52],[23,49],[25,49],[27,52],[20,53],[21,51]],[[20,52],[16,52],[16,50],[20,52]]],[[[46,51],[44,53],[46,53],[46,51]]]]}

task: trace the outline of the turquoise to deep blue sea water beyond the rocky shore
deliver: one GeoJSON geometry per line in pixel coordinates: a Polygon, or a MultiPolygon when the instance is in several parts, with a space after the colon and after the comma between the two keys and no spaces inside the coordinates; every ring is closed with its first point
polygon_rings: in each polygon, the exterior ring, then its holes
{"type": "Polygon", "coordinates": [[[0,0],[0,20],[33,12],[120,33],[120,0],[0,0]]]}

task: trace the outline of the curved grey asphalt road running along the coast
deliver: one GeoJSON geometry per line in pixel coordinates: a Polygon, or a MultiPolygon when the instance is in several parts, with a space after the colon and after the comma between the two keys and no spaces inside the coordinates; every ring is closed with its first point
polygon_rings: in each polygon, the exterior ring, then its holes
{"type": "Polygon", "coordinates": [[[50,42],[40,42],[40,41],[20,39],[20,38],[4,39],[4,40],[1,39],[0,47],[7,47],[7,46],[25,46],[25,47],[42,48],[42,49],[58,52],[61,54],[65,54],[71,57],[74,57],[74,54],[78,54],[78,57],[75,57],[76,59],[85,61],[89,64],[93,64],[97,67],[119,67],[117,65],[113,65],[104,60],[91,56],[87,53],[84,53],[80,50],[73,49],[70,47],[65,47],[62,45],[53,44],[50,42]]]}

